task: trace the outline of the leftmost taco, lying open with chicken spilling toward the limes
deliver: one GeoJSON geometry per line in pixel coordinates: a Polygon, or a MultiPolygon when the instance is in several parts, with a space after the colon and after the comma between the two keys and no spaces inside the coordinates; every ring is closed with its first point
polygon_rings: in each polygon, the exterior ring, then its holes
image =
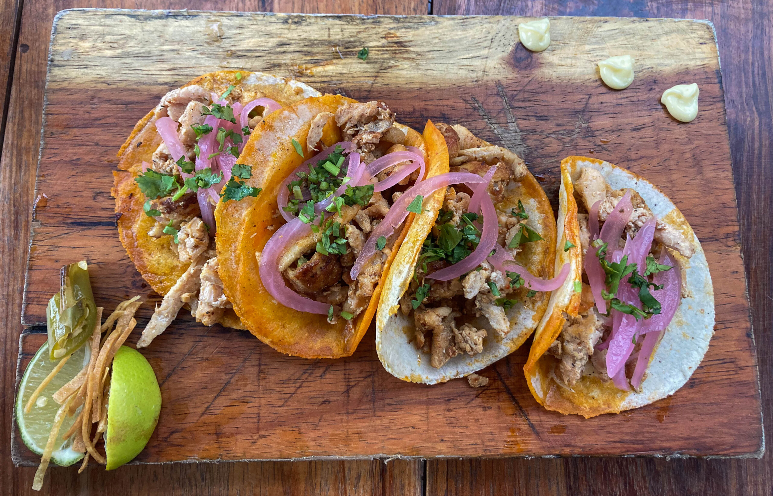
{"type": "Polygon", "coordinates": [[[189,306],[198,322],[243,328],[220,289],[214,205],[247,136],[284,105],[318,95],[284,77],[220,71],[169,91],[118,152],[118,234],[143,279],[163,295],[138,346],[189,306]]]}

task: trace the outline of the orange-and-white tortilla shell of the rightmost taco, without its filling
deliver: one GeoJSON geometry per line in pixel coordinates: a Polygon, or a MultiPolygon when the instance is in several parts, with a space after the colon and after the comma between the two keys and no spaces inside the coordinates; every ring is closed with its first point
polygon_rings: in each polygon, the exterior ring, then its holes
{"type": "Polygon", "coordinates": [[[570,156],[561,162],[559,203],[556,267],[570,263],[571,272],[564,286],[550,296],[548,310],[536,329],[524,367],[526,381],[534,398],[547,409],[589,418],[638,408],[673,394],[684,385],[703,360],[713,335],[711,275],[706,256],[692,227],[673,202],[648,180],[599,159],[570,156]],[[612,381],[602,381],[596,375],[582,375],[569,388],[557,381],[554,372],[557,358],[547,353],[547,349],[561,333],[567,316],[577,316],[580,307],[581,293],[575,291],[575,285],[582,281],[583,255],[573,181],[586,167],[598,170],[613,189],[635,190],[660,221],[676,227],[695,248],[694,255],[689,259],[673,252],[683,272],[683,295],[688,296],[683,296],[676,315],[652,352],[649,368],[638,392],[622,391],[612,381]],[[564,251],[566,241],[575,248],[564,251]]]}

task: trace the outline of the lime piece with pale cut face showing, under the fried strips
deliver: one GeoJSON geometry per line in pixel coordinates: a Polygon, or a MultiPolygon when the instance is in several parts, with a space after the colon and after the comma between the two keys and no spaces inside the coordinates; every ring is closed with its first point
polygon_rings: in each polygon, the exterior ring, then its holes
{"type": "MultiPolygon", "coordinates": [[[[27,404],[27,400],[32,396],[32,393],[35,392],[36,388],[43,382],[43,379],[49,375],[49,372],[59,362],[49,360],[48,343],[44,343],[35,354],[35,357],[32,358],[32,361],[29,362],[29,365],[27,365],[27,370],[24,371],[24,376],[22,377],[22,384],[19,385],[19,393],[16,395],[16,424],[19,426],[22,441],[32,452],[39,455],[43,454],[43,449],[46,447],[51,427],[53,426],[53,418],[60,407],[58,403],[53,401],[52,396],[67,381],[75,377],[83,366],[88,363],[90,353],[87,352],[86,348],[87,346],[80,347],[79,350],[73,353],[73,356],[64,364],[59,374],[46,385],[46,388],[43,388],[43,392],[40,393],[37,401],[32,404],[32,409],[29,413],[24,412],[24,405],[27,404]]],[[[56,444],[54,445],[56,449],[51,455],[51,461],[62,467],[72,465],[83,458],[83,453],[77,453],[70,449],[72,438],[65,441],[61,437],[73,426],[73,422],[75,422],[79,412],[80,409],[75,412],[75,415],[65,417],[59,431],[59,437],[56,438],[56,444]]]]}

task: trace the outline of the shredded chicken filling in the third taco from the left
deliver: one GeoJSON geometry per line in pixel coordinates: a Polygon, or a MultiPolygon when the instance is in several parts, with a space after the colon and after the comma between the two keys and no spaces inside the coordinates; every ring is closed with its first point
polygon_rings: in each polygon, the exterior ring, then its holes
{"type": "MultiPolygon", "coordinates": [[[[472,135],[467,128],[440,123],[438,130],[443,134],[448,146],[451,172],[485,176],[491,166],[497,166],[488,189],[495,206],[504,200],[509,183],[526,175],[526,166],[516,154],[499,146],[489,145],[472,135]]],[[[444,224],[451,224],[458,231],[462,231],[469,224],[463,216],[468,214],[471,196],[472,190],[465,185],[447,188],[438,221],[428,238],[430,244],[425,242],[422,256],[431,251],[432,248],[427,246],[439,243],[440,229],[444,224]]],[[[499,244],[507,246],[519,231],[524,219],[509,210],[499,209],[497,217],[499,244]]],[[[469,218],[467,217],[467,220],[469,218]]],[[[515,256],[519,248],[508,248],[508,251],[510,255],[515,256]]],[[[431,355],[430,364],[435,368],[441,368],[458,354],[475,356],[481,353],[484,340],[490,333],[493,333],[492,337],[496,339],[505,337],[510,331],[508,310],[516,301],[523,300],[527,292],[521,286],[519,276],[512,272],[503,274],[492,268],[488,262],[483,262],[477,269],[450,281],[434,281],[426,277],[450,263],[448,259],[424,263],[420,257],[414,279],[400,299],[400,311],[406,316],[411,313],[414,316],[414,344],[431,355]],[[426,289],[427,285],[429,289],[426,289]],[[426,295],[420,298],[419,295],[425,290],[426,295]],[[485,327],[480,326],[481,321],[486,323],[485,327]]]]}

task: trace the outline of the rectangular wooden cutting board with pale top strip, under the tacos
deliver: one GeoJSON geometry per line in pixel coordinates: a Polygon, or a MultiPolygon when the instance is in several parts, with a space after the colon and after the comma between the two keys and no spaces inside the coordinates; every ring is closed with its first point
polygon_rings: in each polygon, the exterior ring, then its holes
{"type": "MultiPolygon", "coordinates": [[[[250,334],[182,318],[143,354],[163,408],[139,462],[305,457],[551,454],[761,456],[758,372],[749,319],[717,45],[707,22],[551,19],[530,53],[516,17],[273,15],[72,10],[49,56],[19,373],[45,339],[45,305],[64,263],[87,258],[97,303],[158,302],[124,253],[110,197],[115,154],[166,91],[212,70],[261,70],[320,91],[381,99],[400,121],[458,122],[518,152],[555,201],[559,162],[587,155],[642,174],[674,200],[706,251],[717,306],[703,364],[673,397],[585,420],[540,408],[526,346],[482,371],[491,382],[416,385],[387,374],[373,330],[342,360],[286,357],[250,334]],[[366,61],[356,58],[369,48],[366,61]],[[595,63],[635,58],[625,91],[595,63]],[[690,124],[659,103],[700,85],[690,124]],[[46,197],[44,197],[45,195],[46,197]]],[[[138,333],[135,333],[136,340],[138,333]]],[[[529,343],[527,343],[529,344],[529,343]]],[[[15,434],[19,464],[36,463],[15,434]]]]}

